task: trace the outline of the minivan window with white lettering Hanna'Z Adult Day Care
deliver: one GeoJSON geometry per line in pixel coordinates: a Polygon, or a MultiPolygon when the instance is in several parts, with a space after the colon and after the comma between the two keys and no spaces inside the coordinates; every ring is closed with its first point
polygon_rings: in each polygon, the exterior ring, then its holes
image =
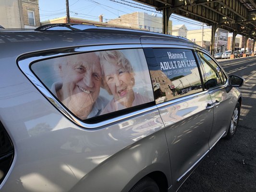
{"type": "Polygon", "coordinates": [[[191,49],[153,48],[145,53],[157,104],[202,91],[191,49]]]}

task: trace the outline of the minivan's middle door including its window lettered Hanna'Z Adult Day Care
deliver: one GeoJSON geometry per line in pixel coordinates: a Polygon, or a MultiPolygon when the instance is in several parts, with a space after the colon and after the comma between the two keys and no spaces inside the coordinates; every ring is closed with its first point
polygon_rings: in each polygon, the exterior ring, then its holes
{"type": "Polygon", "coordinates": [[[172,184],[177,189],[209,150],[212,101],[203,91],[192,49],[155,47],[144,51],[166,129],[172,184]]]}

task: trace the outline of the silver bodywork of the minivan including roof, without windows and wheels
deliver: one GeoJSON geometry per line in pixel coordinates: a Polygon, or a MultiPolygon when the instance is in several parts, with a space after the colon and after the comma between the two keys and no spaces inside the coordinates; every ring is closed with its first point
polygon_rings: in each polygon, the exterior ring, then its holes
{"type": "Polygon", "coordinates": [[[33,62],[125,48],[207,51],[181,37],[112,28],[4,29],[0,44],[0,122],[15,155],[1,192],[128,192],[144,177],[158,177],[162,189],[176,192],[227,132],[241,98],[238,88],[225,84],[88,123],[52,96],[31,70],[33,62]],[[218,107],[212,105],[217,99],[218,107]]]}

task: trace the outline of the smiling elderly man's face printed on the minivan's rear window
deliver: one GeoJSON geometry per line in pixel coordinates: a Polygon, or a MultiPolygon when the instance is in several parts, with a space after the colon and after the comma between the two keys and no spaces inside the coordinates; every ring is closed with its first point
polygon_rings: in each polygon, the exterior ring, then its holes
{"type": "Polygon", "coordinates": [[[99,95],[101,68],[95,53],[67,57],[60,67],[62,102],[80,119],[86,119],[99,95]]]}

